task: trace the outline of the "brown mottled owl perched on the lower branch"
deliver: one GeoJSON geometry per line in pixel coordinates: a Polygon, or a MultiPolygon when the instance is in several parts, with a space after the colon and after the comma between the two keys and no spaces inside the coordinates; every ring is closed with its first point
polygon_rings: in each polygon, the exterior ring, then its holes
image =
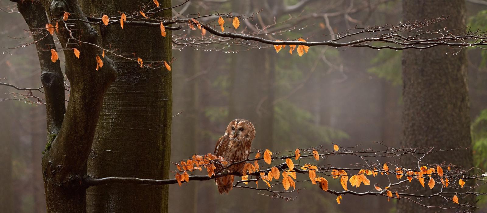
{"type": "MultiPolygon", "coordinates": [[[[228,124],[225,135],[222,136],[215,146],[215,155],[222,156],[232,162],[246,160],[250,153],[250,146],[255,138],[255,128],[252,123],[244,119],[235,119],[228,124]]],[[[237,163],[226,168],[230,172],[242,172],[244,163],[237,163]]],[[[221,164],[216,165],[216,170],[222,169],[221,164]]],[[[215,179],[220,194],[226,193],[233,188],[233,175],[218,177],[215,179]]]]}

